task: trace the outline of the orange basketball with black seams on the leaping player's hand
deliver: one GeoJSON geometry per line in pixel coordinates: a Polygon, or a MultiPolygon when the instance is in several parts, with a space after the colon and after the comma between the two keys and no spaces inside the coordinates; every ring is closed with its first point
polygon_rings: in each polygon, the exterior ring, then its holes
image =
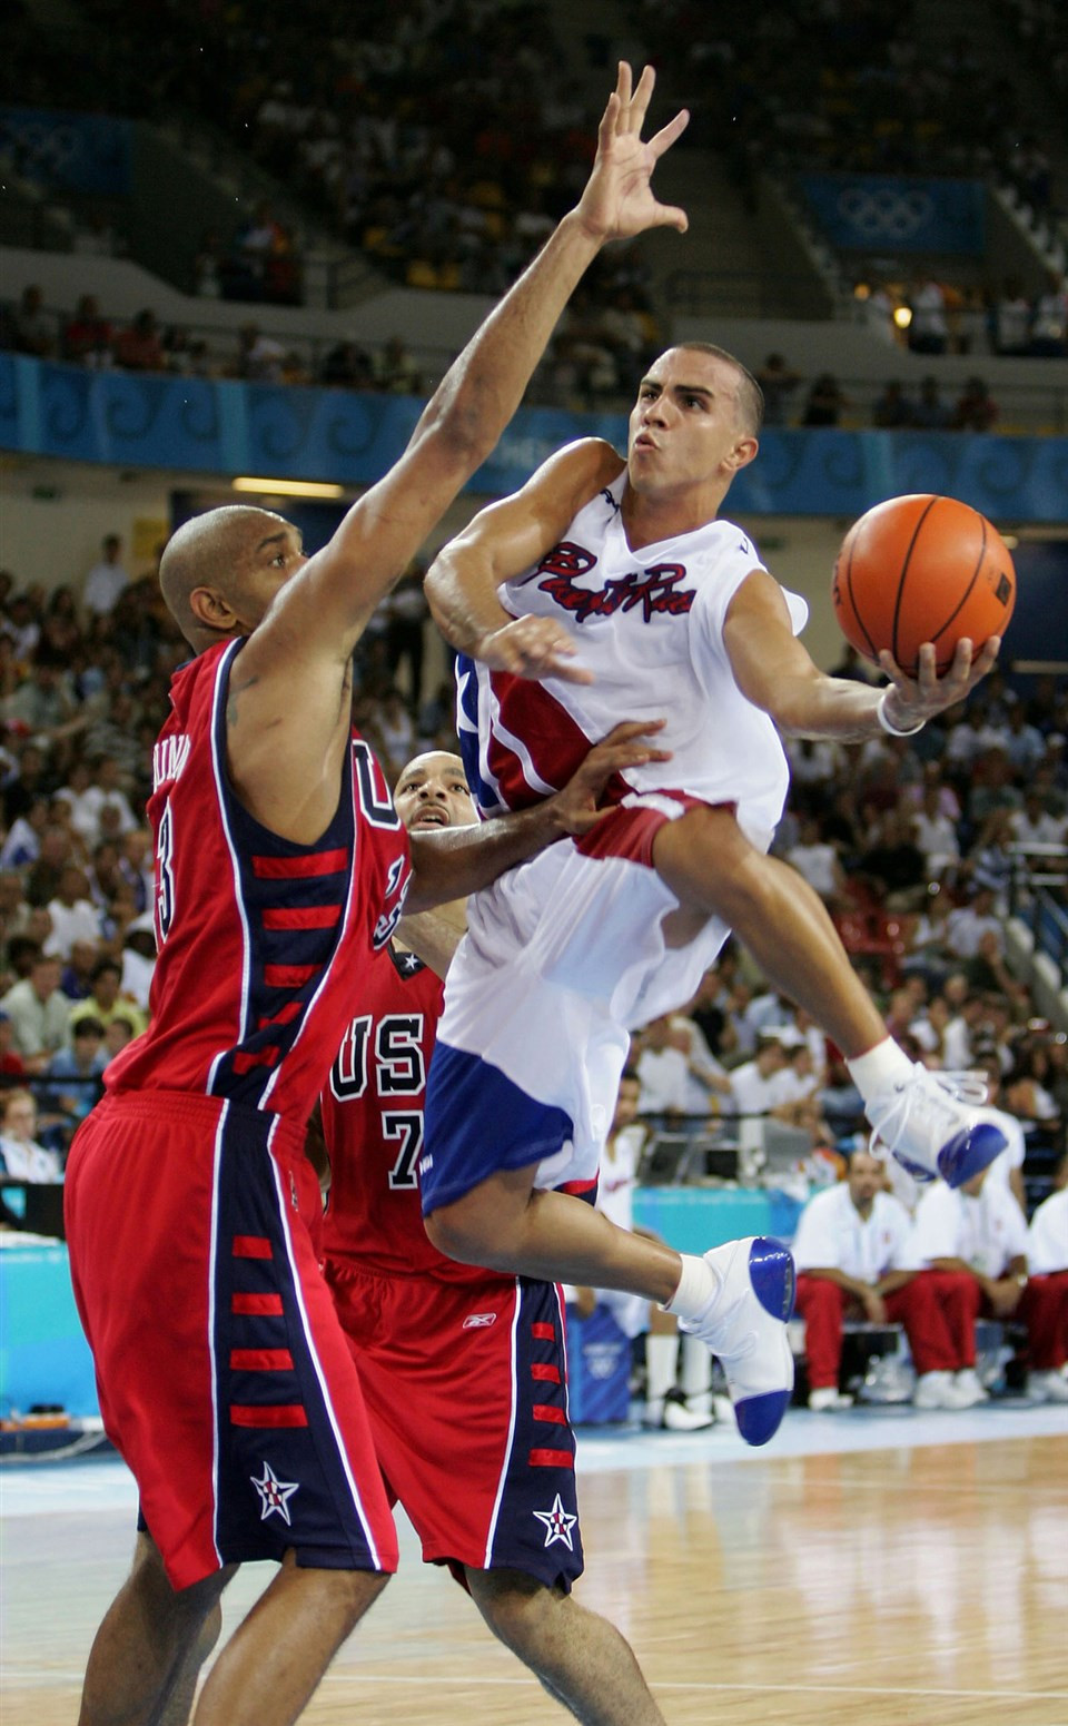
{"type": "Polygon", "coordinates": [[[939,677],[961,635],[975,651],[1004,635],[1016,604],[1016,571],[997,528],[956,497],[890,497],[854,521],[835,561],[839,628],[868,659],[889,647],[916,673],[933,642],[939,677]]]}

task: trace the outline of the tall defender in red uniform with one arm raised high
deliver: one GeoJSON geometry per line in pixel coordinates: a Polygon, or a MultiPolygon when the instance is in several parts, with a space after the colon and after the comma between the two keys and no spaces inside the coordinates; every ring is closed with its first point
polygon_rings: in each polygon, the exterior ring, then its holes
{"type": "Polygon", "coordinates": [[[599,785],[578,816],[437,846],[423,835],[409,851],[350,732],[352,649],[493,449],[604,242],[685,228],[650,174],[687,117],[644,143],[650,93],[650,69],[631,90],[619,67],[578,205],[321,552],[307,559],[285,520],[247,507],[186,523],[164,552],[164,597],[197,658],[174,678],[155,749],[152,1025],[112,1063],[66,1187],[105,1429],[145,1522],[93,1643],[81,1726],[159,1719],[233,1567],[264,1557],[281,1569],[195,1721],[288,1726],[395,1567],[309,1236],[319,1194],[304,1127],[405,894],[412,910],[464,896],[571,820],[595,820],[599,785]]]}

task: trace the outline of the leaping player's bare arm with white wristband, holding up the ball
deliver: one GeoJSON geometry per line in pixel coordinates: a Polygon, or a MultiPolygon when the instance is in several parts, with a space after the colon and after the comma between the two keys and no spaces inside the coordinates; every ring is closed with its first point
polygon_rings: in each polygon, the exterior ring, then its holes
{"type": "Polygon", "coordinates": [[[961,640],[952,666],[939,677],[935,649],[927,642],[914,678],[883,652],[880,665],[890,685],[882,690],[826,677],[794,635],[782,589],[764,570],[754,570],[732,599],[723,640],[738,689],[770,713],[782,732],[837,742],[864,742],[882,730],[920,730],[925,720],[956,706],[975,689],[1001,647],[1001,639],[992,635],[973,658],[971,642],[961,640]]]}

